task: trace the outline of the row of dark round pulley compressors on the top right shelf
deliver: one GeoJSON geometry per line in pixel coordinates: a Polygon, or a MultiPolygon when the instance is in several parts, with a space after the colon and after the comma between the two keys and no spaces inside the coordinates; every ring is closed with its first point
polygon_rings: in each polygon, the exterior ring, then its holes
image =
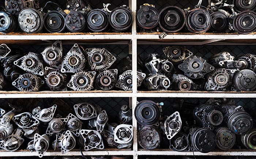
{"type": "Polygon", "coordinates": [[[238,32],[250,34],[256,31],[255,1],[202,0],[193,8],[181,9],[168,6],[160,12],[154,5],[144,4],[137,12],[140,32],[238,32]]]}

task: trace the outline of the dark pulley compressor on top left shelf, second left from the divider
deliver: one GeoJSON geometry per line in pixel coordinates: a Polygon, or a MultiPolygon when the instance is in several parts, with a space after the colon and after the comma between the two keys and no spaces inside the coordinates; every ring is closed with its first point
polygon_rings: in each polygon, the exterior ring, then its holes
{"type": "Polygon", "coordinates": [[[108,13],[102,9],[93,9],[87,14],[88,28],[93,32],[103,32],[109,27],[108,13]]]}

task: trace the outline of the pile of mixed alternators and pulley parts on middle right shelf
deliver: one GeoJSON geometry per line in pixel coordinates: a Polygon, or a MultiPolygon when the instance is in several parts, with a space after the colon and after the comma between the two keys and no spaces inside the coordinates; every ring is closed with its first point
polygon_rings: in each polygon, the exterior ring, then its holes
{"type": "Polygon", "coordinates": [[[163,48],[165,58],[150,54],[142,70],[148,72],[143,85],[148,90],[254,91],[256,55],[237,59],[228,53],[214,54],[207,62],[185,47],[163,48]]]}

